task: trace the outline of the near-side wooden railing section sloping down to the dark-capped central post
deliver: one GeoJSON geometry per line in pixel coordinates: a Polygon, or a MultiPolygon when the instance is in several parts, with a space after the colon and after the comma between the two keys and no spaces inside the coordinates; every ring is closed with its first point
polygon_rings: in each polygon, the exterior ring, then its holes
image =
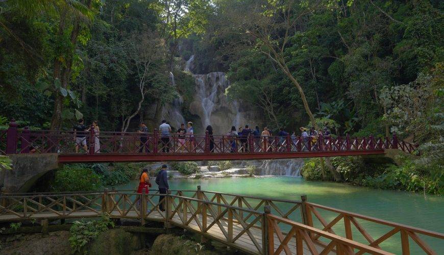
{"type": "Polygon", "coordinates": [[[246,252],[264,254],[263,212],[191,197],[169,195],[169,222],[246,252]],[[246,221],[242,215],[250,214],[246,221]],[[246,245],[249,244],[249,245],[246,245]],[[248,246],[248,247],[245,247],[248,246]]]}

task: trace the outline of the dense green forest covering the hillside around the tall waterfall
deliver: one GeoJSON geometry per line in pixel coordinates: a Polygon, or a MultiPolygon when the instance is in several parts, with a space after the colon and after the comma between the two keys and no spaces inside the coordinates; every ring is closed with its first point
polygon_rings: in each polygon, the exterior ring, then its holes
{"type": "Polygon", "coordinates": [[[309,160],[306,179],[441,194],[443,10],[438,0],[0,1],[0,128],[14,118],[70,130],[84,118],[153,129],[179,97],[187,119],[194,55],[193,73],[226,72],[227,98],[276,133],[327,124],[418,145],[397,165],[309,160]]]}

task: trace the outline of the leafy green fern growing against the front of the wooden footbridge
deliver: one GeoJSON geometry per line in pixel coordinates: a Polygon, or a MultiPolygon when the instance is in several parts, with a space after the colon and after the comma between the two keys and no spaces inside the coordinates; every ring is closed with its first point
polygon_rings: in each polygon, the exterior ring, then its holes
{"type": "Polygon", "coordinates": [[[87,221],[82,219],[75,221],[69,230],[70,236],[68,239],[72,248],[72,254],[86,254],[85,245],[97,238],[100,233],[108,230],[109,227],[114,227],[114,222],[105,214],[102,215],[100,220],[87,221]]]}

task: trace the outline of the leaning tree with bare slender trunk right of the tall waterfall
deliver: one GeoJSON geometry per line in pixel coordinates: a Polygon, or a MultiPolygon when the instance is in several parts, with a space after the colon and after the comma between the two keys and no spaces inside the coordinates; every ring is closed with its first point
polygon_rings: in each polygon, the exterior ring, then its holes
{"type": "MultiPolygon", "coordinates": [[[[241,13],[233,15],[233,22],[239,26],[240,33],[251,36],[257,42],[256,47],[268,56],[298,89],[305,112],[317,130],[318,126],[310,110],[305,92],[288,67],[286,49],[290,36],[295,33],[295,31],[302,30],[303,20],[305,20],[306,16],[312,13],[317,6],[320,6],[320,3],[316,2],[306,5],[306,2],[294,0],[264,2],[265,1],[258,1],[243,12],[241,11],[241,13]]],[[[330,160],[326,158],[325,161],[334,179],[341,181],[342,177],[340,173],[332,167],[330,160]]]]}

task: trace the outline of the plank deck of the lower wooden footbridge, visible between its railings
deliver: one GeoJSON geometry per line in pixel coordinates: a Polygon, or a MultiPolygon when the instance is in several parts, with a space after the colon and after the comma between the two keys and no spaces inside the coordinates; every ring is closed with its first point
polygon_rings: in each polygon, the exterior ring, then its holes
{"type": "MultiPolygon", "coordinates": [[[[161,215],[158,211],[153,211],[149,214],[149,216],[146,219],[153,220],[153,221],[163,221],[165,215],[164,215],[164,213],[162,213],[162,214],[163,215],[161,215]]],[[[35,214],[30,215],[29,219],[60,219],[61,215],[62,215],[62,213],[60,213],[60,214],[51,213],[51,212],[35,213],[35,214]]],[[[100,216],[101,216],[101,214],[97,214],[95,212],[84,211],[84,212],[69,213],[69,214],[66,214],[65,216],[63,216],[63,218],[91,218],[91,217],[100,217],[100,216]]],[[[111,212],[110,216],[111,216],[111,218],[140,219],[140,217],[138,216],[138,212],[136,212],[135,210],[129,211],[126,214],[126,216],[121,216],[121,214],[118,210],[114,210],[113,212],[111,212]]],[[[198,218],[199,218],[199,221],[202,222],[202,215],[199,215],[198,218]]],[[[211,218],[210,216],[207,216],[207,219],[209,222],[213,221],[213,218],[211,218]]],[[[14,215],[14,214],[0,215],[0,221],[17,221],[17,220],[22,220],[22,218],[19,217],[18,215],[14,215]]],[[[227,244],[226,238],[217,224],[214,224],[210,228],[210,230],[207,231],[207,233],[202,233],[199,228],[199,225],[195,221],[195,219],[193,219],[187,226],[184,226],[183,222],[180,219],[180,217],[178,216],[178,214],[175,214],[175,216],[173,216],[172,219],[170,220],[170,223],[174,224],[178,227],[185,228],[186,230],[204,235],[207,238],[227,244]]],[[[227,220],[220,219],[220,223],[221,223],[221,225],[223,225],[225,230],[228,231],[227,220]]],[[[233,222],[233,235],[234,236],[237,236],[242,230],[243,230],[243,227],[239,223],[233,222]]],[[[260,228],[252,227],[251,233],[253,234],[253,236],[256,239],[256,241],[258,242],[258,244],[262,247],[262,231],[260,230],[260,228]]],[[[279,247],[279,245],[280,245],[280,241],[275,233],[275,238],[274,238],[275,249],[277,249],[279,247]]],[[[251,238],[246,233],[243,233],[241,235],[241,237],[239,239],[237,239],[234,243],[231,243],[230,246],[236,247],[239,250],[242,250],[247,253],[258,254],[256,246],[254,245],[251,238]]],[[[288,247],[290,248],[292,254],[296,254],[296,242],[295,242],[294,238],[293,238],[293,240],[291,240],[288,243],[288,247]]],[[[304,254],[311,254],[310,250],[307,248],[305,243],[304,243],[303,248],[304,248],[304,254]]],[[[317,246],[316,248],[319,251],[319,253],[320,253],[320,251],[323,250],[323,247],[321,247],[321,246],[317,246]]],[[[282,251],[281,254],[285,254],[285,252],[282,251]]],[[[329,254],[334,254],[334,253],[330,252],[329,254]]]]}

